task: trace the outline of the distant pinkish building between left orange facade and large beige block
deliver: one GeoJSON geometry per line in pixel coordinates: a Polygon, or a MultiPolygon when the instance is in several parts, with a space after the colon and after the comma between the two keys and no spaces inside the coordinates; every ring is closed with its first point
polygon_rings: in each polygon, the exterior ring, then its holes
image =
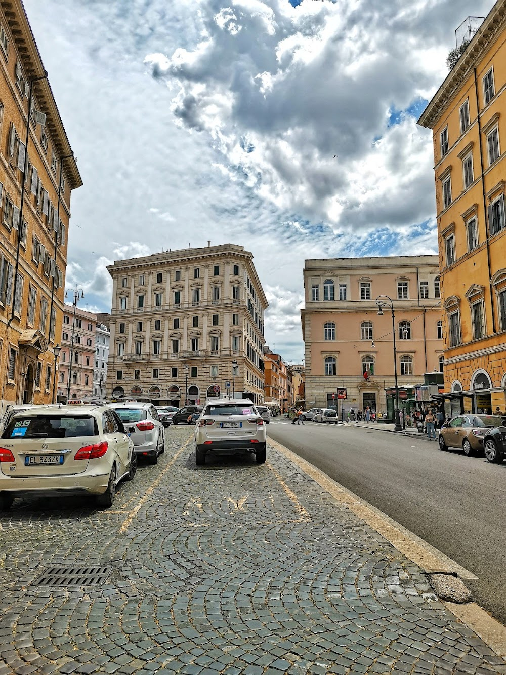
{"type": "Polygon", "coordinates": [[[95,358],[96,315],[65,304],[59,356],[58,401],[91,402],[95,358]],[[69,384],[70,379],[70,384],[69,384]]]}

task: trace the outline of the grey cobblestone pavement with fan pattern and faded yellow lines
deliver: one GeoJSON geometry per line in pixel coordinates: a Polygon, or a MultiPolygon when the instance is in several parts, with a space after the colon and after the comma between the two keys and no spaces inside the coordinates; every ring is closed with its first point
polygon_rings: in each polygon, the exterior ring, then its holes
{"type": "Polygon", "coordinates": [[[416,565],[275,450],[202,467],[193,450],[171,427],[109,511],[26,499],[3,514],[0,675],[506,673],[416,565]],[[113,570],[33,585],[57,564],[113,570]]]}

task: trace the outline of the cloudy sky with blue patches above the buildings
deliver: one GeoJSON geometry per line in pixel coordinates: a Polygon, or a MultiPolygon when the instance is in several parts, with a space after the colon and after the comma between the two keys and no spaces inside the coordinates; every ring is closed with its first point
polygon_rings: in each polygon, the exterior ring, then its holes
{"type": "Polygon", "coordinates": [[[269,346],[301,362],[305,259],[437,252],[416,119],[493,4],[24,0],[84,182],[67,288],[110,311],[114,260],[240,244],[269,346]]]}

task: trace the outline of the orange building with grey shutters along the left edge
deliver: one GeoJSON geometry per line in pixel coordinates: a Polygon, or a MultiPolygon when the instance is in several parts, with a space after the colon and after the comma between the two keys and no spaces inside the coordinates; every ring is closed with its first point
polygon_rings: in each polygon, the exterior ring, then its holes
{"type": "Polygon", "coordinates": [[[1,3],[1,413],[53,401],[70,194],[80,185],[22,1],[1,3]]]}

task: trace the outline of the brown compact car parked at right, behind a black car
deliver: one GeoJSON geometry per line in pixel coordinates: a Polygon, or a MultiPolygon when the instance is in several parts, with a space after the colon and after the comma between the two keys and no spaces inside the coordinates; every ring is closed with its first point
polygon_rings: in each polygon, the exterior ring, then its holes
{"type": "Polygon", "coordinates": [[[461,448],[466,455],[483,453],[483,441],[488,429],[503,425],[503,418],[495,415],[465,414],[453,417],[441,428],[439,448],[461,448]]]}

